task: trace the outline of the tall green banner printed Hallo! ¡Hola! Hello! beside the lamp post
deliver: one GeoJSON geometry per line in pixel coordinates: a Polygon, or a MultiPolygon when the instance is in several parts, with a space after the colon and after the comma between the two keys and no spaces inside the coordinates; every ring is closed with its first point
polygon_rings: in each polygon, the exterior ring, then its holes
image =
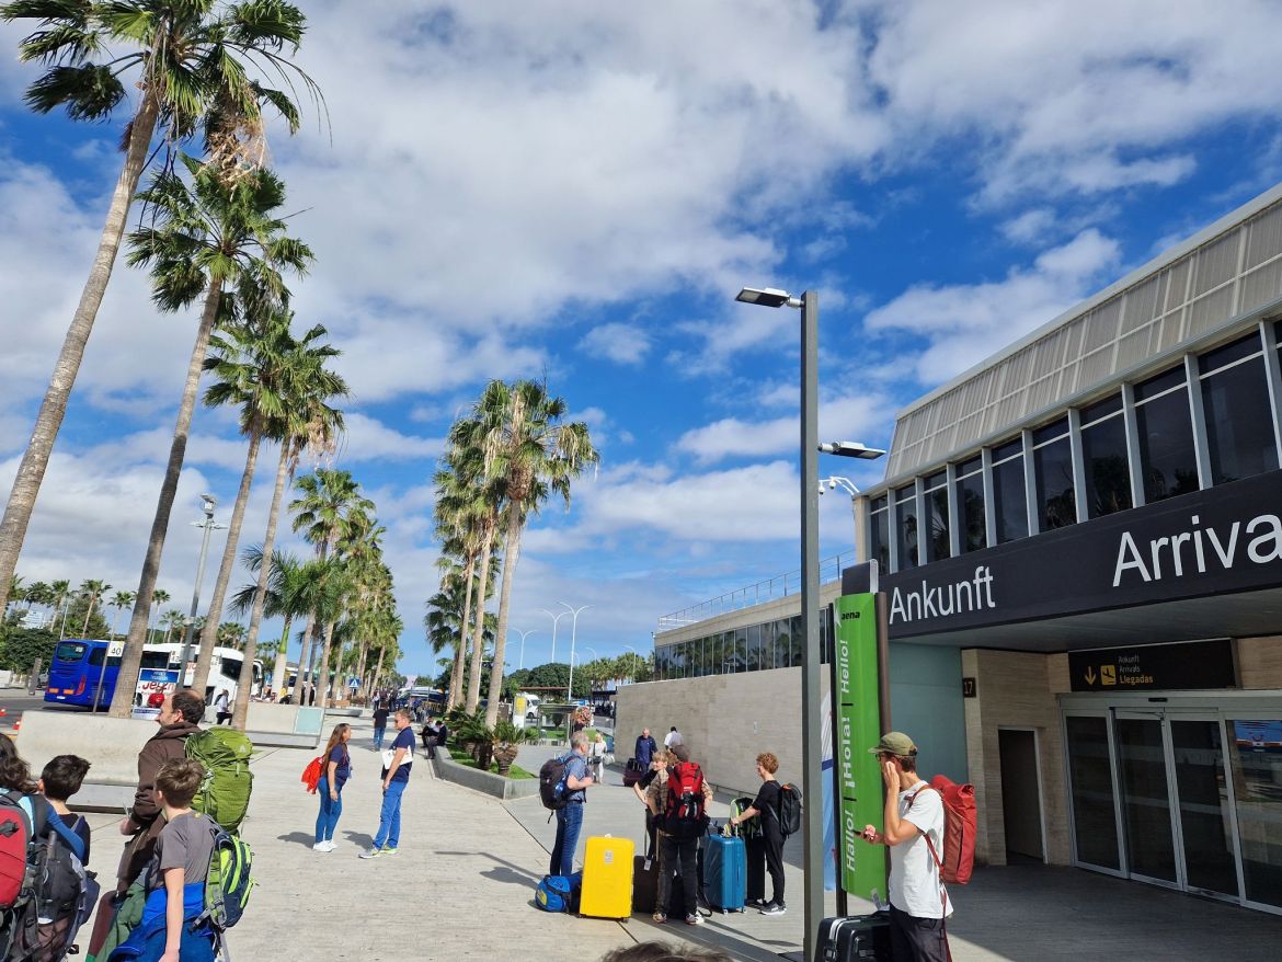
{"type": "Polygon", "coordinates": [[[837,852],[841,888],[886,898],[886,856],[860,838],[882,822],[882,777],[868,749],[881,738],[877,707],[876,595],[842,595],[833,603],[837,625],[833,658],[833,766],[837,772],[837,852]]]}

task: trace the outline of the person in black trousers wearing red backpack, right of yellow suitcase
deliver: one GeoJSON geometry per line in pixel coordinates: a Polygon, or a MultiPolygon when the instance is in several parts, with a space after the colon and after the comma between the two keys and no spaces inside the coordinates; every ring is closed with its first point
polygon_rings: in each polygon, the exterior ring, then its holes
{"type": "MultiPolygon", "coordinates": [[[[673,729],[676,731],[676,729],[673,729]]],[[[655,902],[654,921],[663,925],[668,921],[668,904],[672,897],[672,876],[681,876],[686,897],[686,925],[699,925],[699,839],[708,827],[708,803],[713,800],[713,786],[704,779],[697,764],[690,761],[685,745],[677,745],[668,753],[676,759],[670,768],[662,768],[646,791],[646,804],[654,812],[659,825],[659,898],[655,902]],[[694,793],[703,795],[703,804],[686,817],[678,812],[673,793],[694,793]]],[[[685,808],[685,806],[679,806],[685,808]]]]}

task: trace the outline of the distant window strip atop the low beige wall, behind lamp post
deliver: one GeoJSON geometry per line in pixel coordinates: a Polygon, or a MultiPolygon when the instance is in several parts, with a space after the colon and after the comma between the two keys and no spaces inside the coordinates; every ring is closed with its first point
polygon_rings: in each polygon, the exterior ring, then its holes
{"type": "MultiPolygon", "coordinates": [[[[819,646],[824,661],[832,652],[832,608],[819,613],[819,646]]],[[[795,668],[801,664],[805,640],[801,616],[747,625],[690,641],[655,645],[655,680],[735,675],[741,671],[795,668]]]]}

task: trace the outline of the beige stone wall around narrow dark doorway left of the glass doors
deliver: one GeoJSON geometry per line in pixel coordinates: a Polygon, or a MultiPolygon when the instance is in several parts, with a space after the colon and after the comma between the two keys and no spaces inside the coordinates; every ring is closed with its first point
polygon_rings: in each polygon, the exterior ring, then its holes
{"type": "Polygon", "coordinates": [[[976,679],[977,698],[965,699],[965,739],[979,825],[976,858],[1006,863],[1001,799],[1001,727],[1037,732],[1046,861],[1069,863],[1068,789],[1064,747],[1055,695],[1068,690],[1067,655],[1032,652],[962,652],[962,672],[976,679]]]}

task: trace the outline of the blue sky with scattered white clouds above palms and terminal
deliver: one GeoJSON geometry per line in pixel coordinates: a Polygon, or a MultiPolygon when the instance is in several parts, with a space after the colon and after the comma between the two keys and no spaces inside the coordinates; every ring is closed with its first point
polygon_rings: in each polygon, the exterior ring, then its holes
{"type": "MultiPolygon", "coordinates": [[[[435,671],[429,477],[487,378],[546,376],[603,454],[527,534],[526,663],[558,602],[591,605],[592,652],[645,650],[659,616],[799,566],[796,313],[736,305],[741,286],[820,292],[820,431],[886,446],[899,407],[1282,178],[1270,3],[304,9],[329,127],[277,124],[273,165],[318,253],[299,317],[331,330],[355,389],[338,464],[388,527],[406,672],[435,671]]],[[[123,122],[28,114],[19,37],[0,27],[0,494],[123,122]]],[[[136,587],[194,330],[118,264],[28,580],[136,587]]],[[[199,412],[160,577],[183,607],[196,495],[229,503],[242,457],[232,416],[199,412]]],[[[844,498],[823,499],[822,541],[851,549],[844,498]]]]}

